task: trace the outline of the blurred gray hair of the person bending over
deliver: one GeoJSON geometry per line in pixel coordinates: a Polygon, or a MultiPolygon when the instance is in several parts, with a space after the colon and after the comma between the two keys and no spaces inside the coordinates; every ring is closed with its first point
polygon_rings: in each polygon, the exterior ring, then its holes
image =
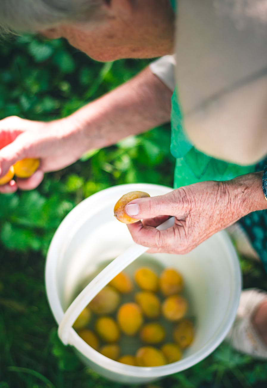
{"type": "Polygon", "coordinates": [[[102,0],[0,0],[0,33],[36,32],[97,16],[102,0]]]}

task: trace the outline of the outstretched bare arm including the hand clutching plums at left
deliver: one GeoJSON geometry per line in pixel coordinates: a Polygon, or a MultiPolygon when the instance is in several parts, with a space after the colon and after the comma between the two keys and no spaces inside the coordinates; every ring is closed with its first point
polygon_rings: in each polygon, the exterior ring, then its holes
{"type": "Polygon", "coordinates": [[[84,152],[169,121],[171,90],[146,68],[135,78],[74,114],[48,123],[8,117],[0,121],[0,177],[23,158],[39,158],[28,179],[12,180],[0,192],[31,190],[43,173],[64,168],[84,152]]]}

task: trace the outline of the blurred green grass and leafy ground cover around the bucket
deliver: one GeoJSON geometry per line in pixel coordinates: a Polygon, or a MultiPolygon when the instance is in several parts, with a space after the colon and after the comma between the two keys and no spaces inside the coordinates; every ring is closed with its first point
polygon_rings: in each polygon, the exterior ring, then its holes
{"type": "MultiPolygon", "coordinates": [[[[2,42],[0,58],[0,118],[17,114],[33,120],[66,116],[147,64],[101,64],[61,40],[30,36],[2,42]]],[[[169,126],[156,128],[47,174],[38,190],[0,196],[0,388],[123,387],[85,367],[58,340],[45,294],[45,257],[63,217],[94,192],[132,182],[171,186],[169,143],[169,126]]],[[[259,263],[241,259],[241,267],[245,287],[267,290],[259,263]]],[[[223,343],[198,365],[154,385],[263,388],[266,381],[266,362],[223,343]]]]}

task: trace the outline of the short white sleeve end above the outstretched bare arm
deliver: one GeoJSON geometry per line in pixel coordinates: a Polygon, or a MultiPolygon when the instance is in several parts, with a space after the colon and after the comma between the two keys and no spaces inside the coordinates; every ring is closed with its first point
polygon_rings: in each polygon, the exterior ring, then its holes
{"type": "Polygon", "coordinates": [[[165,55],[156,59],[149,65],[150,70],[155,74],[170,90],[175,89],[175,57],[174,55],[165,55]]]}

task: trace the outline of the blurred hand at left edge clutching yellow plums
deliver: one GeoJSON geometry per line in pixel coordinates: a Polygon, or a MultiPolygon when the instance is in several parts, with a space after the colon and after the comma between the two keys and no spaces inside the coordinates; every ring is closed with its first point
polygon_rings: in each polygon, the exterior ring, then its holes
{"type": "Polygon", "coordinates": [[[38,170],[27,179],[12,180],[0,186],[0,192],[10,193],[18,188],[31,190],[43,180],[48,171],[57,171],[74,163],[82,154],[67,119],[51,121],[24,120],[17,116],[0,121],[0,177],[10,166],[24,158],[40,159],[38,170]]]}

